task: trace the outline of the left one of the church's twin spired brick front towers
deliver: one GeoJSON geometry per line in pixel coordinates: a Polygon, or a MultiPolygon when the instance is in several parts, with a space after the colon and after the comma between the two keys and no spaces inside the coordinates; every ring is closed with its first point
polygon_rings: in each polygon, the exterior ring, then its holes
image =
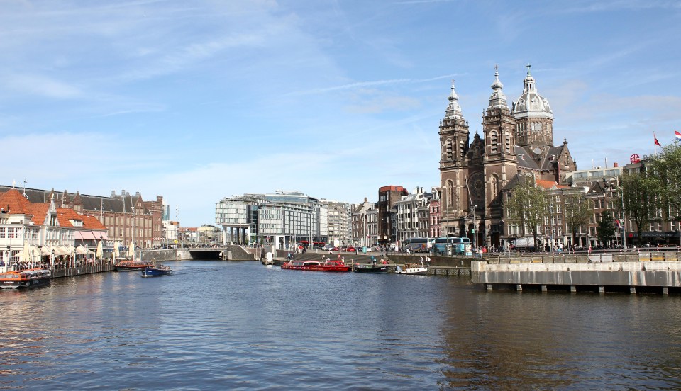
{"type": "Polygon", "coordinates": [[[454,90],[449,95],[445,117],[440,121],[440,188],[442,235],[458,234],[460,216],[465,214],[466,200],[461,198],[465,183],[466,153],[470,142],[468,121],[461,113],[459,96],[454,90]]]}

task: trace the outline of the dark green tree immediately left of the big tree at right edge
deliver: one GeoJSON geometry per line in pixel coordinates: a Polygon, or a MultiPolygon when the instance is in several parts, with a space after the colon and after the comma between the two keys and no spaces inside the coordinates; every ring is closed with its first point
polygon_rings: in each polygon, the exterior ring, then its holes
{"type": "Polygon", "coordinates": [[[659,179],[650,175],[644,168],[633,174],[621,176],[622,195],[624,196],[624,212],[636,224],[638,244],[642,244],[641,230],[652,220],[656,220],[658,210],[659,179]]]}

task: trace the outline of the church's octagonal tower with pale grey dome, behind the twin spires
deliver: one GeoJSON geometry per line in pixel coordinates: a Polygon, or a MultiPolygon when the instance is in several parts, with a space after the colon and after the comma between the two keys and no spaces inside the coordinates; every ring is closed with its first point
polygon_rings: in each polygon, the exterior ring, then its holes
{"type": "Polygon", "coordinates": [[[530,67],[527,64],[523,94],[513,103],[511,114],[516,122],[516,144],[533,152],[533,159],[543,159],[553,147],[553,111],[537,92],[530,67]]]}

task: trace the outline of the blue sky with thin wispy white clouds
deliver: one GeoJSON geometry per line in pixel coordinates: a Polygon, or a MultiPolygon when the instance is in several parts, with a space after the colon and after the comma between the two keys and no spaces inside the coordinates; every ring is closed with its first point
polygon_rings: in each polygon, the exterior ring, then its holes
{"type": "Polygon", "coordinates": [[[0,183],[163,196],[184,227],[430,189],[451,80],[482,135],[496,64],[509,105],[531,64],[578,169],[624,165],[681,130],[680,37],[663,0],[0,0],[0,183]]]}

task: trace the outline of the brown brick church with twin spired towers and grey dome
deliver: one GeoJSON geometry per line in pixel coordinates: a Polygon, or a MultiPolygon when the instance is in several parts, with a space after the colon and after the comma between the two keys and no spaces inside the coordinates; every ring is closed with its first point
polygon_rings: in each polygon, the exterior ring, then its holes
{"type": "Polygon", "coordinates": [[[482,114],[483,135],[475,132],[472,141],[452,83],[439,132],[443,236],[467,236],[478,246],[503,245],[509,234],[502,196],[517,182],[514,178],[531,174],[539,180],[565,183],[565,174],[577,169],[567,140],[553,145],[553,111],[538,94],[527,68],[523,93],[511,108],[497,69],[492,96],[482,114]]]}

